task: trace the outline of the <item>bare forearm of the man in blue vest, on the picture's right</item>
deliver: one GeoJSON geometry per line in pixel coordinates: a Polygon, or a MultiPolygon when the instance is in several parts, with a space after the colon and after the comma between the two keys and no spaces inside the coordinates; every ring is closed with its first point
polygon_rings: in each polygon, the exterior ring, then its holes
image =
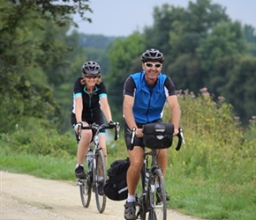
{"type": "Polygon", "coordinates": [[[181,116],[180,107],[177,101],[177,95],[172,95],[167,98],[169,110],[171,114],[171,122],[174,125],[174,135],[177,135],[179,128],[179,121],[181,116]]]}

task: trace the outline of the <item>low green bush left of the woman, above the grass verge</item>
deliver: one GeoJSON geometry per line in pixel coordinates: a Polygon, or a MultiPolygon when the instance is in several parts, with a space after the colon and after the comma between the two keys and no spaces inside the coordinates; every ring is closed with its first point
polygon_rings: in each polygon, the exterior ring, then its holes
{"type": "MultiPolygon", "coordinates": [[[[34,121],[34,120],[32,120],[34,121]]],[[[30,121],[31,122],[31,121],[30,121]]],[[[34,155],[49,155],[56,158],[73,157],[77,153],[77,143],[72,131],[59,134],[56,128],[37,123],[16,125],[14,132],[2,134],[1,140],[8,143],[11,150],[25,151],[34,155]]]]}

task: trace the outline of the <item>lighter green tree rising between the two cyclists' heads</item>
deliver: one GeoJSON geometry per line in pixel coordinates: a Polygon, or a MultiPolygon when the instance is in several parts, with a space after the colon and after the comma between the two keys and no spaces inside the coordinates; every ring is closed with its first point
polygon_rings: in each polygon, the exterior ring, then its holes
{"type": "Polygon", "coordinates": [[[134,71],[141,70],[140,55],[146,50],[144,42],[142,34],[132,33],[131,36],[125,39],[115,40],[109,51],[110,66],[106,81],[109,104],[116,121],[121,121],[123,117],[120,107],[123,106],[125,79],[134,71]]]}

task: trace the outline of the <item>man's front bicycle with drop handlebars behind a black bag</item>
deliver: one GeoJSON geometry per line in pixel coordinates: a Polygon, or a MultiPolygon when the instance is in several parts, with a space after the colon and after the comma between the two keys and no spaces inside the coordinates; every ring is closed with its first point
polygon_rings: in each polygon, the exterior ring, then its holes
{"type": "MultiPolygon", "coordinates": [[[[147,146],[147,149],[144,148],[144,163],[140,172],[140,181],[138,186],[136,187],[136,203],[139,206],[139,210],[136,211],[136,219],[145,220],[166,220],[167,219],[167,202],[166,202],[166,191],[164,186],[164,180],[162,176],[162,170],[159,165],[157,165],[157,150],[162,148],[168,148],[172,144],[172,134],[173,134],[173,125],[172,124],[163,124],[163,123],[154,123],[156,125],[156,129],[160,131],[156,136],[160,138],[159,143],[163,140],[162,137],[164,136],[167,128],[165,129],[164,126],[169,126],[169,146],[161,146],[157,143],[156,146],[147,146]],[[157,126],[157,125],[160,125],[157,126]],[[163,127],[162,127],[163,125],[163,127]],[[171,136],[171,137],[170,137],[171,136]],[[149,157],[151,157],[151,165],[148,166],[149,157]]],[[[144,128],[143,128],[144,129],[144,128]]],[[[135,136],[135,128],[132,128],[132,140],[131,143],[133,144],[134,136],[135,136]]],[[[152,135],[152,134],[151,134],[152,135]]],[[[183,135],[183,128],[178,129],[178,141],[176,150],[180,150],[182,143],[184,143],[184,135],[183,135]]],[[[144,133],[143,139],[146,138],[146,134],[144,133]]],[[[152,139],[148,139],[147,143],[151,142],[152,139]]],[[[150,144],[149,144],[150,145],[150,144]]],[[[133,149],[132,148],[130,150],[133,149]]]]}

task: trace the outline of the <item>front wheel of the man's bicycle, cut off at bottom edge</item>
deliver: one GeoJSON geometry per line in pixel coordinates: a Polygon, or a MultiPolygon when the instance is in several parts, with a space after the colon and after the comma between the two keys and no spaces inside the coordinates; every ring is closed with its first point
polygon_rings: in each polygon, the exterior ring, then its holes
{"type": "Polygon", "coordinates": [[[160,168],[154,169],[153,177],[149,180],[149,213],[148,218],[150,220],[166,220],[167,219],[167,204],[166,193],[164,187],[164,180],[162,171],[160,168]],[[156,183],[159,183],[159,187],[156,188],[156,183]]]}

